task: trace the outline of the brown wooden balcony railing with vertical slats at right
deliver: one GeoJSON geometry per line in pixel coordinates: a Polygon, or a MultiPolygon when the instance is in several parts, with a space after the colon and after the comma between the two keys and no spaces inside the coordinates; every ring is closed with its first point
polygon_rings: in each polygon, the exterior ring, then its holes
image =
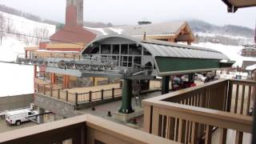
{"type": "Polygon", "coordinates": [[[219,143],[242,143],[243,134],[251,133],[248,115],[255,86],[250,81],[219,80],[146,99],[144,130],[176,142],[211,143],[218,128],[219,143]],[[227,137],[228,130],[236,131],[234,138],[227,137]]]}

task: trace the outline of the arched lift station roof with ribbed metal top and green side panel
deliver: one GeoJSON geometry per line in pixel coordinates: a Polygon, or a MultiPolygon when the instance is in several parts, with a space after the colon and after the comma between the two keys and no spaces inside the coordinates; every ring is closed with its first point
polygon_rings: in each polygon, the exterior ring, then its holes
{"type": "MultiPolygon", "coordinates": [[[[174,42],[162,42],[158,40],[141,40],[123,35],[108,35],[94,40],[94,42],[102,42],[107,38],[112,38],[114,42],[120,38],[143,46],[154,57],[154,63],[158,70],[158,76],[170,74],[182,74],[207,70],[218,70],[220,68],[230,67],[234,62],[230,62],[225,54],[217,50],[181,45],[174,42]]],[[[82,51],[82,54],[90,53],[90,45],[82,51]]]]}

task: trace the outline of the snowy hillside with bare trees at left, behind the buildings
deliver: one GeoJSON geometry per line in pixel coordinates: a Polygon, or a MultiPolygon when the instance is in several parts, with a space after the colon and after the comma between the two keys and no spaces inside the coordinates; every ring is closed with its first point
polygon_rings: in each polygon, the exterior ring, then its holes
{"type": "MultiPolygon", "coordinates": [[[[0,61],[15,61],[27,45],[36,45],[54,34],[55,26],[0,12],[0,61]],[[38,38],[36,38],[38,37],[38,38]]],[[[0,62],[0,97],[34,93],[33,66],[0,62]]]]}

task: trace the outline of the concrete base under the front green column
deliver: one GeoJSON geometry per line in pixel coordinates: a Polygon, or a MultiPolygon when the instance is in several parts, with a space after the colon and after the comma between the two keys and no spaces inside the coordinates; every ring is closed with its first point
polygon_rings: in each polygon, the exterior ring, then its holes
{"type": "Polygon", "coordinates": [[[122,122],[128,122],[132,118],[136,118],[139,116],[142,116],[144,114],[144,110],[142,107],[134,107],[134,112],[130,114],[122,114],[119,112],[114,113],[114,118],[122,121],[122,122]]]}

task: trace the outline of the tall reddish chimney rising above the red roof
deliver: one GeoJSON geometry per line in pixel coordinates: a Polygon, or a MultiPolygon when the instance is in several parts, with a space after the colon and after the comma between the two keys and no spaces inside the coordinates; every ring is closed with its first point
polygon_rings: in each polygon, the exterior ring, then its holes
{"type": "Polygon", "coordinates": [[[83,26],[83,0],[66,0],[66,26],[83,26]]]}

